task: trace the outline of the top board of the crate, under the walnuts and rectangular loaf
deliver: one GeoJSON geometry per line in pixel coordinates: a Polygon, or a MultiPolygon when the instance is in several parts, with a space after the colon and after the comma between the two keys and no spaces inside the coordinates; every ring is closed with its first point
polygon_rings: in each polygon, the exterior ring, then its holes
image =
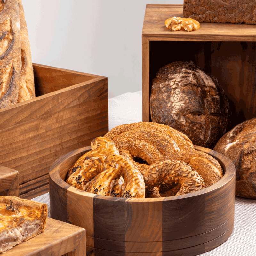
{"type": "Polygon", "coordinates": [[[149,41],[256,41],[256,27],[247,24],[201,22],[196,31],[172,31],[164,21],[183,17],[183,4],[147,4],[142,35],[149,41]]]}

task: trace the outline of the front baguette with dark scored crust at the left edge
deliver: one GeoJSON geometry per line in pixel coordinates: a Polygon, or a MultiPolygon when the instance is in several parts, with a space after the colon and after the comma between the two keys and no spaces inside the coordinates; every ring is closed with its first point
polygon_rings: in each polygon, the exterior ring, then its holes
{"type": "Polygon", "coordinates": [[[0,2],[0,108],[15,104],[20,81],[20,14],[17,0],[0,2]]]}

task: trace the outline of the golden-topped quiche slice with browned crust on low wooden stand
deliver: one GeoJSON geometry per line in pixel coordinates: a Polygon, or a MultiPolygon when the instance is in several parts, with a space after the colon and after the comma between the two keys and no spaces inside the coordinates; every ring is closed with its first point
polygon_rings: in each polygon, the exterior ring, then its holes
{"type": "Polygon", "coordinates": [[[44,231],[47,204],[0,196],[0,253],[44,231]]]}

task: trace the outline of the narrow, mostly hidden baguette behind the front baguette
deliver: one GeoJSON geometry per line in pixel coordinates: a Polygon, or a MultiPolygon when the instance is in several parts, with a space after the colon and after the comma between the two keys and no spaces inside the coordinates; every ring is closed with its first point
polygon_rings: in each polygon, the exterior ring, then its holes
{"type": "Polygon", "coordinates": [[[21,0],[18,0],[18,4],[20,11],[21,69],[17,103],[36,97],[28,28],[21,0]]]}

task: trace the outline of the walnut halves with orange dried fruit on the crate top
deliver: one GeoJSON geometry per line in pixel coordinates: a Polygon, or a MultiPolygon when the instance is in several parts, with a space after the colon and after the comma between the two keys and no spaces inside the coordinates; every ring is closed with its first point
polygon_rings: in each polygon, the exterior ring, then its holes
{"type": "Polygon", "coordinates": [[[200,28],[200,23],[194,19],[174,16],[165,20],[165,26],[169,29],[172,29],[172,31],[178,31],[181,28],[184,28],[186,31],[190,32],[200,28]]]}

